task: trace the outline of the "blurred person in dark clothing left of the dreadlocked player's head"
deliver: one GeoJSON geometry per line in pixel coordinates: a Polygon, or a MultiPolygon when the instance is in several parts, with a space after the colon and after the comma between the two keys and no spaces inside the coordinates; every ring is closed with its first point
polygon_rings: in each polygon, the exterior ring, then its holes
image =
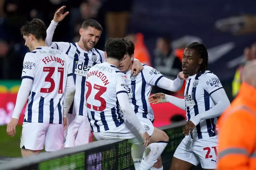
{"type": "Polygon", "coordinates": [[[170,39],[166,37],[160,37],[156,40],[154,67],[168,79],[174,80],[182,71],[182,64],[172,52],[170,43],[170,39]]]}

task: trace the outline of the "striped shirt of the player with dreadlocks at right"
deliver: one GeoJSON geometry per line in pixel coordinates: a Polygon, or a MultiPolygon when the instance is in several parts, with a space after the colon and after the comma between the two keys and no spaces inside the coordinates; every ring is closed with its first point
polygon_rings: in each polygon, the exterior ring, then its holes
{"type": "MultiPolygon", "coordinates": [[[[210,95],[221,88],[223,87],[220,80],[210,71],[189,76],[184,91],[187,120],[215,106],[216,103],[212,101],[210,95]]],[[[215,136],[217,120],[217,117],[201,120],[193,129],[192,138],[201,139],[215,136]]]]}

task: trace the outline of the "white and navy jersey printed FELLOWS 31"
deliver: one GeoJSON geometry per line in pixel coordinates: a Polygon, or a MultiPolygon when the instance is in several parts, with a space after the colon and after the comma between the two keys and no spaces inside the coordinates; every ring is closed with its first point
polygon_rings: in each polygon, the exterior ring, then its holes
{"type": "Polygon", "coordinates": [[[24,57],[21,79],[32,79],[24,122],[62,124],[67,77],[72,76],[68,56],[51,47],[38,47],[24,57]]]}

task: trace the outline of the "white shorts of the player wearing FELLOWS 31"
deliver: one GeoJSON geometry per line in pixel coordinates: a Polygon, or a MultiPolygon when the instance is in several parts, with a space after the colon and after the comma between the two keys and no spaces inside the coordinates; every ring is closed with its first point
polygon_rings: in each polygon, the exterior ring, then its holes
{"type": "Polygon", "coordinates": [[[45,150],[48,152],[63,149],[63,124],[23,122],[21,149],[45,150]]]}

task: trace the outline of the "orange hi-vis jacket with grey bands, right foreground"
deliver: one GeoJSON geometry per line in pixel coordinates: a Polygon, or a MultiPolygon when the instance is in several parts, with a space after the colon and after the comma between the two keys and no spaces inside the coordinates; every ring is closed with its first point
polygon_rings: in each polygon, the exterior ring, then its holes
{"type": "Polygon", "coordinates": [[[256,88],[242,83],[218,128],[218,170],[256,170],[256,88]]]}

